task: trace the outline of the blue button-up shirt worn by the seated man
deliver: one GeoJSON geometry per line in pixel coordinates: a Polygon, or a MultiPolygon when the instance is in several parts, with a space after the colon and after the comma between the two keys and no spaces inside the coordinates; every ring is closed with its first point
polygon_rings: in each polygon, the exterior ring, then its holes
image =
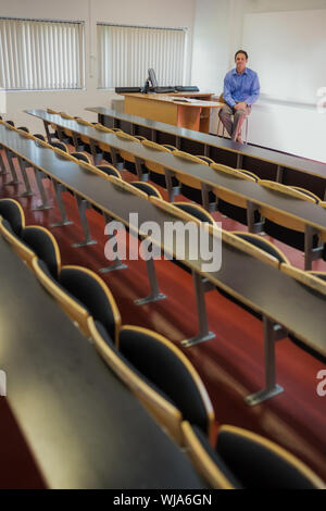
{"type": "Polygon", "coordinates": [[[260,80],[254,71],[246,67],[243,73],[238,74],[234,68],[224,78],[223,98],[230,107],[241,101],[253,104],[259,99],[260,88],[260,80]]]}

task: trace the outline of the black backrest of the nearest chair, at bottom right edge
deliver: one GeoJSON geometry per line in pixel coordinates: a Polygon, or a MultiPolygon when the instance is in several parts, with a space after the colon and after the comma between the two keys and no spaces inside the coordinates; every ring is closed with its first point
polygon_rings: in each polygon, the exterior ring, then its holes
{"type": "Polygon", "coordinates": [[[216,450],[244,488],[313,488],[292,464],[250,438],[223,431],[216,450]]]}

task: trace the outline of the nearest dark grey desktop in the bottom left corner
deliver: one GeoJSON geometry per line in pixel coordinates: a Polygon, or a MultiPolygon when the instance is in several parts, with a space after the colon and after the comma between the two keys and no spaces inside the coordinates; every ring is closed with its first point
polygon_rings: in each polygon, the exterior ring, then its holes
{"type": "Polygon", "coordinates": [[[0,262],[7,401],[48,486],[203,488],[186,456],[1,237],[0,262]]]}

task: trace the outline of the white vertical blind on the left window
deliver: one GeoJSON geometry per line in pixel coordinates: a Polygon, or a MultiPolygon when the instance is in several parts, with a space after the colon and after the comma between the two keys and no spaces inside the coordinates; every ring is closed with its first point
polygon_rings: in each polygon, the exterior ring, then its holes
{"type": "Polygon", "coordinates": [[[84,87],[84,24],[0,18],[0,87],[84,87]]]}

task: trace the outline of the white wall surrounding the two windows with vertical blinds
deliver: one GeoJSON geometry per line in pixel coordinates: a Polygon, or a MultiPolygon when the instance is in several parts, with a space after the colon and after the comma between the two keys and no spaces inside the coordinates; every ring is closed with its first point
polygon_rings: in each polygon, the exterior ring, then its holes
{"type": "MultiPolygon", "coordinates": [[[[85,90],[8,92],[7,119],[27,125],[33,133],[42,132],[42,123],[23,113],[27,109],[53,108],[96,121],[86,107],[110,107],[114,92],[97,88],[96,22],[164,27],[189,27],[192,46],[195,0],[1,0],[0,16],[85,21],[85,90]]],[[[191,52],[188,55],[189,70],[191,52]]],[[[189,71],[190,76],[190,71],[189,71]]]]}

